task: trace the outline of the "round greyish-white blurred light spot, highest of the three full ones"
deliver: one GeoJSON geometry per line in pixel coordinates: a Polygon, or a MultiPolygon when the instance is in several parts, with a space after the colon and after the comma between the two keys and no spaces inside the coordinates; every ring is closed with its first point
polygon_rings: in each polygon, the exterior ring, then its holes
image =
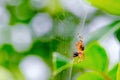
{"type": "Polygon", "coordinates": [[[32,27],[36,36],[43,36],[52,29],[52,19],[46,13],[37,14],[32,20],[32,27]]]}

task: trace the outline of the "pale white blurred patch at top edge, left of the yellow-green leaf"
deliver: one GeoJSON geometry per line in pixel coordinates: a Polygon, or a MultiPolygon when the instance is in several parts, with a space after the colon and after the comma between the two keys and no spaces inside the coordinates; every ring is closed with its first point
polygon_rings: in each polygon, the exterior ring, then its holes
{"type": "Polygon", "coordinates": [[[83,18],[86,11],[88,14],[91,14],[96,10],[84,2],[84,0],[60,0],[60,2],[65,9],[81,18],[83,18]]]}

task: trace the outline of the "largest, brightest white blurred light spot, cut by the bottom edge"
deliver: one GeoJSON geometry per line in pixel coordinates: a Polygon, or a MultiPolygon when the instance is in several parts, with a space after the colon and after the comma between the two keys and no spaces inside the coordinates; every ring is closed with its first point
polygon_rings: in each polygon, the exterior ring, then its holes
{"type": "Polygon", "coordinates": [[[26,80],[48,80],[50,69],[38,56],[28,56],[20,63],[20,70],[26,80]]]}

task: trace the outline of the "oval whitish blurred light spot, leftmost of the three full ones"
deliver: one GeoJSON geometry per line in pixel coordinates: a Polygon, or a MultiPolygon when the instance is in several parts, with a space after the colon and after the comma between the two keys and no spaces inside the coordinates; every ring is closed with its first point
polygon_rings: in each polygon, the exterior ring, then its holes
{"type": "Polygon", "coordinates": [[[28,50],[32,43],[31,31],[28,25],[15,25],[11,29],[11,41],[17,51],[22,52],[28,50]]]}

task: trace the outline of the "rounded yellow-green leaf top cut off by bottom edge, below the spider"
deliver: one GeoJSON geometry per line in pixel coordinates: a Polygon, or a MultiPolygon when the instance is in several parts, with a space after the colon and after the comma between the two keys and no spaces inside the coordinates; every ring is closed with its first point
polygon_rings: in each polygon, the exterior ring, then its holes
{"type": "Polygon", "coordinates": [[[95,72],[87,72],[81,74],[77,80],[105,80],[103,76],[95,72]]]}

